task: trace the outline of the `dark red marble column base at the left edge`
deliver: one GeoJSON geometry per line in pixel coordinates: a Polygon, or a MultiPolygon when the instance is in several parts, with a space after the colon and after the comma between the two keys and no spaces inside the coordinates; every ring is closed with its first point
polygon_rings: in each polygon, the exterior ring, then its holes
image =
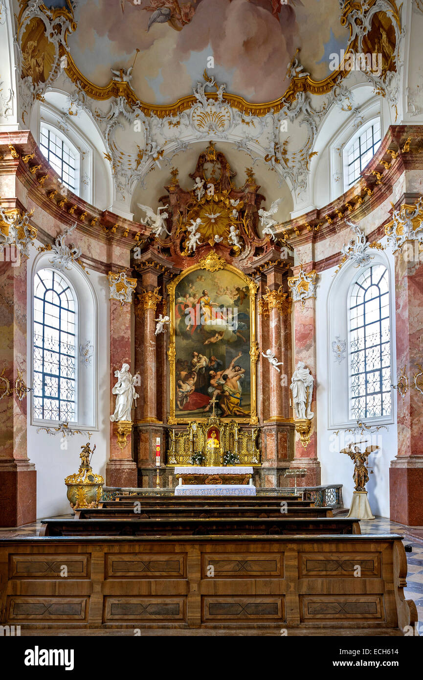
{"type": "Polygon", "coordinates": [[[37,519],[37,472],[32,463],[0,464],[0,526],[16,527],[37,519]]]}

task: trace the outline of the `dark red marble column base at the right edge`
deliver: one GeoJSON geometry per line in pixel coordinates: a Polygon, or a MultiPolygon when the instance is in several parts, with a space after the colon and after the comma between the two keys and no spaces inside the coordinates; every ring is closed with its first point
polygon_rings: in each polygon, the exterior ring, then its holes
{"type": "Polygon", "coordinates": [[[405,462],[399,467],[394,462],[389,471],[390,520],[408,526],[422,526],[423,461],[421,467],[416,466],[417,461],[409,462],[413,467],[405,467],[405,462]]]}

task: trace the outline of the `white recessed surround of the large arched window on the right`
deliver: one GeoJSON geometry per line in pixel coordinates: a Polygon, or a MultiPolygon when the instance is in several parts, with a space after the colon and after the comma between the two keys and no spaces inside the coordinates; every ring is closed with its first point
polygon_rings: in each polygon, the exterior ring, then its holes
{"type": "MultiPolygon", "coordinates": [[[[373,255],[373,252],[372,252],[373,255]]],[[[389,318],[390,318],[390,366],[391,381],[395,381],[395,324],[394,324],[394,273],[390,260],[385,252],[375,251],[371,265],[383,265],[388,270],[389,281],[389,318]]],[[[367,268],[367,267],[366,267],[367,268]]],[[[345,262],[341,271],[334,277],[328,294],[328,429],[349,428],[356,426],[356,419],[350,418],[350,320],[349,301],[356,280],[365,271],[365,267],[357,269],[353,262],[345,262]],[[344,358],[337,362],[332,350],[332,343],[339,336],[346,341],[344,358]]],[[[396,418],[396,396],[391,387],[391,413],[375,418],[365,418],[365,422],[373,425],[392,424],[396,418]]]]}

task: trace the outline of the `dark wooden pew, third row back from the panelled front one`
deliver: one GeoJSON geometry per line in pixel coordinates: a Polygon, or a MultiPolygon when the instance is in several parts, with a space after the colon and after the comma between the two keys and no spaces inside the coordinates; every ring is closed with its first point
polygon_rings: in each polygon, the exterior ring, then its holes
{"type": "MultiPolygon", "coordinates": [[[[118,504],[117,504],[118,505],[118,504]]],[[[157,517],[333,517],[331,508],[304,507],[211,507],[168,508],[138,507],[129,505],[112,508],[86,508],[75,510],[75,520],[150,520],[157,517]]]]}

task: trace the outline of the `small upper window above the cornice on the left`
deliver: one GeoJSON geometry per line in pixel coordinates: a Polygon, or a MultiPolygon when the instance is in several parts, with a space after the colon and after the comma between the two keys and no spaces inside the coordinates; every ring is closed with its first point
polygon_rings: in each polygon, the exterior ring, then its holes
{"type": "Polygon", "coordinates": [[[51,126],[41,125],[39,148],[74,194],[80,194],[80,153],[64,135],[51,126]]]}

